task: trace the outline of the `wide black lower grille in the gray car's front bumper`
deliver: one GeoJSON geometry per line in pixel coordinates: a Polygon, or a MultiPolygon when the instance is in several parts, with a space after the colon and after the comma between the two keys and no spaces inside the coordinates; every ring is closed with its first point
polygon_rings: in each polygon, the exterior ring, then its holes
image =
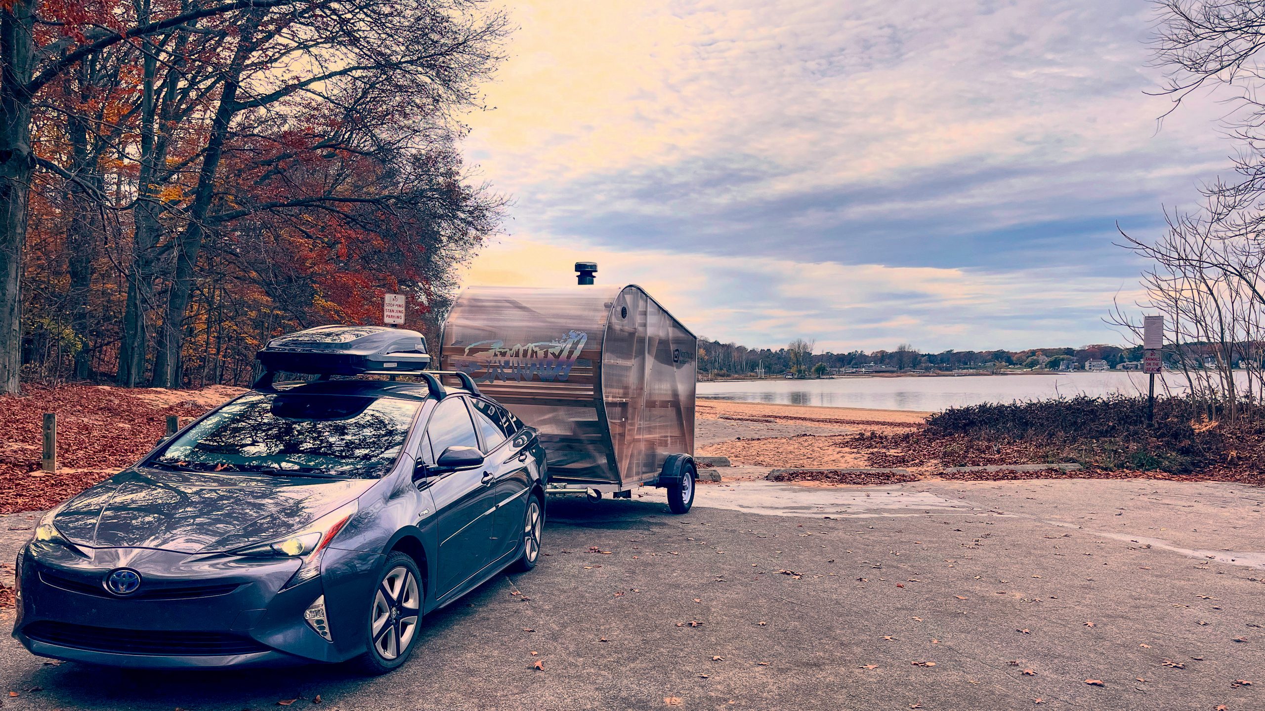
{"type": "Polygon", "coordinates": [[[250,638],[205,631],[116,630],[42,620],[22,630],[30,639],[114,654],[162,654],[171,657],[214,657],[252,654],[268,648],[250,638]]]}

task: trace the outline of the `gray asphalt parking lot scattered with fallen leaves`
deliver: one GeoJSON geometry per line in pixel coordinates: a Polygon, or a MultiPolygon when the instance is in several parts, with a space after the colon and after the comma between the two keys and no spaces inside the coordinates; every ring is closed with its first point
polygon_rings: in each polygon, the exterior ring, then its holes
{"type": "MultiPolygon", "coordinates": [[[[563,501],[541,564],[429,616],[393,674],[54,665],[5,636],[0,698],[164,711],[318,697],[367,710],[1262,708],[1262,501],[1237,485],[1084,479],[735,482],[701,487],[686,516],[653,495],[563,501]]],[[[0,520],[5,559],[29,534],[4,529],[24,521],[0,520]]]]}

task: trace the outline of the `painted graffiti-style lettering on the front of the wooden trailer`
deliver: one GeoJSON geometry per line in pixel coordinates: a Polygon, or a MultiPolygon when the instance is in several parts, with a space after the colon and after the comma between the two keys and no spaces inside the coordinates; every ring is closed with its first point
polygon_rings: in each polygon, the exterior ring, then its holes
{"type": "Polygon", "coordinates": [[[571,330],[562,338],[506,345],[503,340],[479,340],[466,347],[453,366],[478,382],[565,381],[579,358],[588,334],[571,330]]]}

